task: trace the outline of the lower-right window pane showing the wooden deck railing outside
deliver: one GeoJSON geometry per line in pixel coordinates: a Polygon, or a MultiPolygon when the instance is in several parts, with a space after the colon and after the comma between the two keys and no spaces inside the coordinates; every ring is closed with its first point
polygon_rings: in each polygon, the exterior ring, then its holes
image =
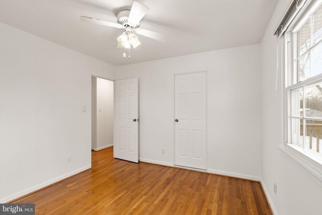
{"type": "Polygon", "coordinates": [[[305,148],[322,153],[322,121],[305,120],[305,148]]]}

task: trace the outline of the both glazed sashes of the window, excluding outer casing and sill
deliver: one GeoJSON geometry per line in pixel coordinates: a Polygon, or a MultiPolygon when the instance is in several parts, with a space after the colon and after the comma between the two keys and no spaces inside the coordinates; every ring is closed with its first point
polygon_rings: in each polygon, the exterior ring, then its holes
{"type": "Polygon", "coordinates": [[[304,24],[289,33],[287,53],[287,142],[322,161],[322,6],[298,21],[304,24]]]}

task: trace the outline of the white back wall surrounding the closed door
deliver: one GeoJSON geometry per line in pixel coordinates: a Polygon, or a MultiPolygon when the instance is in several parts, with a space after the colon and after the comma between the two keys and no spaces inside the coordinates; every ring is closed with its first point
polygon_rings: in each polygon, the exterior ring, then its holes
{"type": "Polygon", "coordinates": [[[174,74],[206,70],[208,171],[260,180],[260,59],[257,44],[117,67],[139,78],[140,160],[173,165],[174,74]]]}

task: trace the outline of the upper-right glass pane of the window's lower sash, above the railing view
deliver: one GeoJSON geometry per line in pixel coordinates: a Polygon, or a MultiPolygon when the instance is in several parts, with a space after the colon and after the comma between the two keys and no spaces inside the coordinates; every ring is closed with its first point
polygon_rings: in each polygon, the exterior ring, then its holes
{"type": "Polygon", "coordinates": [[[322,82],[304,88],[305,117],[322,120],[322,82]]]}

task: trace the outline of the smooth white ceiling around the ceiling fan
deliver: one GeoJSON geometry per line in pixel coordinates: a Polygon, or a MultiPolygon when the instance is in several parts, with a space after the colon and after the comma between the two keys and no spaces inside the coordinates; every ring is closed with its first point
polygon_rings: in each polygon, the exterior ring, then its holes
{"type": "Polygon", "coordinates": [[[123,29],[84,23],[79,16],[117,22],[133,0],[0,0],[0,22],[120,66],[260,43],[278,0],[136,0],[149,7],[141,28],[168,35],[166,43],[138,35],[142,45],[122,57],[123,29]]]}

